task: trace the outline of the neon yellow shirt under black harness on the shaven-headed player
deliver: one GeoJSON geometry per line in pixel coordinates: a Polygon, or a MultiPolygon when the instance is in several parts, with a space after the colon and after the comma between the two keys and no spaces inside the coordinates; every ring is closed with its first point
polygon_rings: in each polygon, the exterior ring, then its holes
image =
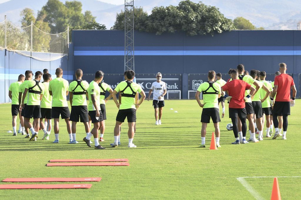
{"type": "MultiPolygon", "coordinates": [[[[77,81],[72,81],[69,85],[69,92],[72,92],[77,85],[77,81]]],[[[87,81],[81,82],[82,87],[87,91],[89,83],[87,81]]],[[[74,92],[82,92],[82,87],[77,86],[74,92]]],[[[87,98],[85,94],[73,94],[72,106],[87,106],[87,98]]]]}

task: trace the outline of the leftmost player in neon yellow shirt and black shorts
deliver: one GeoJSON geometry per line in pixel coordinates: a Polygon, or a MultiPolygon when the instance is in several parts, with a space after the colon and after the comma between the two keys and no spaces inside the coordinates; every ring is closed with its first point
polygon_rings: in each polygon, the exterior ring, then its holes
{"type": "Polygon", "coordinates": [[[20,74],[18,76],[18,81],[9,85],[8,96],[11,99],[11,116],[12,116],[12,126],[13,126],[13,136],[17,136],[17,115],[20,118],[20,125],[18,133],[25,134],[24,130],[24,119],[21,116],[20,104],[19,104],[19,88],[20,85],[24,82],[25,76],[20,74]],[[21,130],[20,130],[21,128],[21,130]]]}

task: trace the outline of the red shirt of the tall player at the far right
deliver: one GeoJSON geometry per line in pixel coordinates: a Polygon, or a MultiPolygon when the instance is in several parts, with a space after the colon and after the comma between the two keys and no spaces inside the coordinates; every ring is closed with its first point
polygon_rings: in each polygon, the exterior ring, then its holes
{"type": "Polygon", "coordinates": [[[275,76],[274,85],[278,85],[275,101],[290,101],[290,87],[295,85],[293,78],[288,74],[280,74],[275,76]]]}

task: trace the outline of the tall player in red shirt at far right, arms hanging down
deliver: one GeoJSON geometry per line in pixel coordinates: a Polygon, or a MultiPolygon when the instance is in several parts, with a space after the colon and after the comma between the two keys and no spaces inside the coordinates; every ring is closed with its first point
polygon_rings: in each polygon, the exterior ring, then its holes
{"type": "Polygon", "coordinates": [[[278,116],[282,115],[283,118],[283,135],[282,139],[286,140],[286,131],[288,126],[287,116],[290,115],[290,106],[295,105],[296,97],[296,86],[293,78],[286,73],[286,64],[279,64],[280,75],[275,76],[274,89],[272,92],[271,100],[274,100],[275,94],[277,92],[274,108],[273,108],[273,122],[275,127],[275,135],[273,139],[279,136],[278,129],[278,116]],[[293,90],[293,97],[290,99],[290,89],[293,90]]]}

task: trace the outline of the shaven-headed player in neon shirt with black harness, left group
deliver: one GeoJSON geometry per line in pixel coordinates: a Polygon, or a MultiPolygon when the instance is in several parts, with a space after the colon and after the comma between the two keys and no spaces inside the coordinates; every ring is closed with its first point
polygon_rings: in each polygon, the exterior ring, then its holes
{"type": "Polygon", "coordinates": [[[73,141],[70,144],[78,143],[76,141],[76,123],[82,122],[85,126],[86,134],[90,133],[88,109],[87,109],[87,90],[89,83],[82,80],[82,70],[75,71],[76,80],[69,85],[69,101],[71,105],[70,121],[72,121],[71,130],[73,141]]]}

